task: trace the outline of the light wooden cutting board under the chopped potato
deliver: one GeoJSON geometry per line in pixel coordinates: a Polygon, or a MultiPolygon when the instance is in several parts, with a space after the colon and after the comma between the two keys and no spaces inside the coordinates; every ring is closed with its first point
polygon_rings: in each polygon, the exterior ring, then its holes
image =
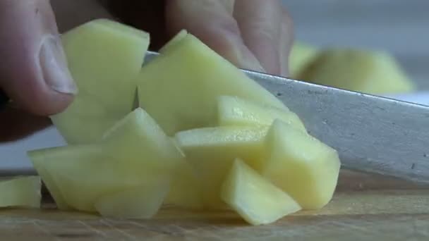
{"type": "Polygon", "coordinates": [[[429,188],[342,171],[337,193],[320,211],[301,211],[250,226],[233,213],[163,209],[152,220],[92,214],[0,210],[0,240],[429,240],[429,188]]]}

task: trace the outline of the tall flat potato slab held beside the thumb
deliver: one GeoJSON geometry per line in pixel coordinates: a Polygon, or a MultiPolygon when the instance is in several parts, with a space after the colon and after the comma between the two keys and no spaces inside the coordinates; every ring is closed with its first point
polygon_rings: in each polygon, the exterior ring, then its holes
{"type": "Polygon", "coordinates": [[[52,121],[68,144],[87,144],[132,111],[150,37],[111,20],[92,20],[62,36],[79,93],[52,121]],[[83,128],[85,123],[85,128],[83,128]]]}

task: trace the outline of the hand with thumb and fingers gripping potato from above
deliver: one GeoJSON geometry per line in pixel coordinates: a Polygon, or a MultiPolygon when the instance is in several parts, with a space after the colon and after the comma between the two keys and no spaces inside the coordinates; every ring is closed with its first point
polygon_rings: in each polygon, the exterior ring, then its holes
{"type": "Polygon", "coordinates": [[[23,121],[37,119],[37,129],[46,127],[49,119],[40,116],[73,101],[76,87],[59,32],[95,18],[150,32],[152,50],[186,29],[238,68],[288,73],[292,21],[280,0],[0,0],[0,88],[18,106],[0,113],[0,126],[8,130],[1,130],[0,141],[35,130],[22,133],[23,121]]]}

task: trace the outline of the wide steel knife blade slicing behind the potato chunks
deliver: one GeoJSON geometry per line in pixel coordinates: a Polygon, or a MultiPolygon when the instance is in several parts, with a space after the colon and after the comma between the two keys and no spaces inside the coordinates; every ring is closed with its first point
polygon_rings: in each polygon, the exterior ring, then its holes
{"type": "MultiPolygon", "coordinates": [[[[145,63],[157,55],[148,51],[145,63]]],[[[344,168],[429,184],[429,106],[243,72],[336,149],[344,168]]]]}

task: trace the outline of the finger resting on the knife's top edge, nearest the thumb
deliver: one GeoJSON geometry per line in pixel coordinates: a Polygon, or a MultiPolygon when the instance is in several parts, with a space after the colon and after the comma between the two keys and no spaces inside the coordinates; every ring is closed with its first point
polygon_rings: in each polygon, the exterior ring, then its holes
{"type": "Polygon", "coordinates": [[[186,29],[210,49],[238,68],[265,72],[241,37],[238,23],[232,16],[234,4],[221,1],[167,1],[167,30],[174,35],[186,29]]]}

